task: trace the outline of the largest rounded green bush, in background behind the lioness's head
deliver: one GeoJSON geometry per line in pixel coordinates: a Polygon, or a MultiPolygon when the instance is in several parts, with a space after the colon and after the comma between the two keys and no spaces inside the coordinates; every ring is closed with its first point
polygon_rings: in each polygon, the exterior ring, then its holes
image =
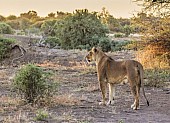
{"type": "Polygon", "coordinates": [[[98,43],[93,40],[106,37],[106,33],[109,32],[98,19],[97,14],[89,13],[86,9],[76,10],[73,15],[57,22],[54,30],[57,37],[62,40],[61,46],[64,49],[77,48],[86,44],[92,47],[98,43]]]}

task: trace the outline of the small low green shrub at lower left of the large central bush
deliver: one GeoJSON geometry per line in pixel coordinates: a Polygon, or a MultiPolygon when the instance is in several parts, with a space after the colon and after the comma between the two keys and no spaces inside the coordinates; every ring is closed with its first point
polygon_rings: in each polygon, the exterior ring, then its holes
{"type": "Polygon", "coordinates": [[[45,43],[46,44],[50,44],[50,48],[53,48],[55,47],[56,45],[60,46],[61,45],[61,41],[59,38],[57,37],[48,37],[46,40],[45,40],[45,43]]]}

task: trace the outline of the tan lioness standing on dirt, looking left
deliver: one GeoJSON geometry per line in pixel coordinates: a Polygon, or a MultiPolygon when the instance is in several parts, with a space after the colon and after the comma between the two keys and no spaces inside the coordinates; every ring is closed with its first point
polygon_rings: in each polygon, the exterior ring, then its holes
{"type": "Polygon", "coordinates": [[[95,61],[97,68],[98,81],[100,83],[100,89],[102,92],[102,102],[100,105],[105,105],[106,101],[106,85],[109,84],[109,101],[107,105],[113,104],[115,96],[115,84],[120,83],[125,77],[127,77],[130,83],[131,92],[135,97],[134,103],[131,108],[137,110],[139,108],[139,94],[140,87],[142,86],[143,95],[149,106],[149,101],[145,96],[143,85],[143,66],[134,60],[115,61],[111,57],[107,56],[103,51],[93,47],[85,57],[87,62],[95,61]]]}

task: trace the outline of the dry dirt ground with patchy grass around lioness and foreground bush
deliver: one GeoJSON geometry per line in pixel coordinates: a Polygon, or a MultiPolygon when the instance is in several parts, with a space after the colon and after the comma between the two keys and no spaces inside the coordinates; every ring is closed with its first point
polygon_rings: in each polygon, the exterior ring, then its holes
{"type": "MultiPolygon", "coordinates": [[[[95,66],[83,62],[86,51],[36,47],[20,60],[18,67],[0,68],[0,122],[2,123],[170,123],[170,88],[145,87],[150,102],[141,93],[140,109],[130,108],[133,96],[128,84],[116,87],[115,104],[100,106],[101,93],[95,66]],[[12,78],[21,64],[36,63],[55,72],[59,82],[55,104],[41,107],[48,112],[44,121],[36,121],[37,107],[24,105],[11,91],[12,78]]],[[[134,59],[131,51],[109,53],[114,59],[134,59]]]]}

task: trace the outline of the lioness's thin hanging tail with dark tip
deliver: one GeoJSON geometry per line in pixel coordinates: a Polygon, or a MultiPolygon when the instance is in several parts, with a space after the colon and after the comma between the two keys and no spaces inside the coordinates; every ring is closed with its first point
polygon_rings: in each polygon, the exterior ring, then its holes
{"type": "MultiPolygon", "coordinates": [[[[139,66],[138,66],[139,67],[139,66]]],[[[143,72],[143,67],[141,65],[141,69],[138,69],[139,70],[139,79],[140,79],[140,83],[141,83],[141,87],[142,87],[142,92],[143,92],[143,96],[145,97],[146,99],[146,102],[147,102],[147,105],[149,106],[149,101],[148,99],[146,98],[146,95],[145,95],[145,90],[144,90],[144,82],[143,82],[143,76],[144,76],[144,72],[143,72]]]]}

